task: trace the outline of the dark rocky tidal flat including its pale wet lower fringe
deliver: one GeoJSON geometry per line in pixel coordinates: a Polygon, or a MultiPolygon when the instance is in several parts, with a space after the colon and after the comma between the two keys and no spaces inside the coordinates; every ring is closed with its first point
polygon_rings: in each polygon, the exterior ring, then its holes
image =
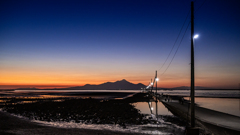
{"type": "Polygon", "coordinates": [[[103,128],[104,131],[110,128],[113,132],[134,134],[155,134],[159,132],[182,134],[184,132],[183,127],[186,123],[179,118],[159,115],[157,117],[161,119],[156,119],[156,116],[154,118],[152,114],[142,114],[134,106],[136,102],[152,101],[153,97],[146,93],[131,93],[130,95],[132,96],[126,98],[108,99],[58,96],[26,98],[18,96],[1,98],[5,101],[1,105],[1,110],[8,114],[24,117],[32,122],[42,122],[45,125],[47,123],[58,128],[81,129],[82,127],[78,127],[80,124],[84,125],[84,128],[90,127],[90,129],[102,130],[100,132],[103,132],[103,128]],[[98,125],[100,125],[100,128],[98,125]]]}

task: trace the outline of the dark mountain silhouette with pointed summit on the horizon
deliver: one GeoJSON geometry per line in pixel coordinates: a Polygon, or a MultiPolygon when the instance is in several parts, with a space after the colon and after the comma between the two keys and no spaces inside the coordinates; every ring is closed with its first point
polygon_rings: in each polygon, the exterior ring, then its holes
{"type": "Polygon", "coordinates": [[[116,82],[106,82],[99,85],[86,84],[84,86],[70,87],[72,90],[140,90],[146,86],[142,83],[133,84],[123,79],[116,82]]]}

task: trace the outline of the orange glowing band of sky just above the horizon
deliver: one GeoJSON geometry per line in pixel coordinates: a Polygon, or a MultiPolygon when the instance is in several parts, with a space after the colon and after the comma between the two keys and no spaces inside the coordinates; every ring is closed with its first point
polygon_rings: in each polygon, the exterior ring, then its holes
{"type": "MultiPolygon", "coordinates": [[[[0,71],[0,89],[14,89],[21,88],[26,86],[35,87],[35,88],[67,88],[74,86],[83,86],[85,84],[99,85],[105,82],[115,82],[122,79],[138,84],[142,83],[148,85],[150,80],[146,78],[151,78],[152,76],[146,76],[145,74],[114,74],[106,72],[94,72],[91,74],[87,73],[73,73],[73,71],[66,72],[33,72],[33,71],[13,71],[9,72],[0,71]]],[[[147,73],[146,73],[147,74],[147,73]]],[[[214,75],[208,74],[205,78],[201,76],[196,77],[195,86],[203,87],[222,87],[228,88],[232,87],[231,84],[233,81],[237,83],[237,78],[233,80],[227,80],[224,75],[221,78],[215,78],[214,75]]],[[[180,86],[190,86],[190,77],[189,75],[174,73],[166,74],[164,77],[159,77],[157,87],[159,88],[174,88],[180,86]]]]}

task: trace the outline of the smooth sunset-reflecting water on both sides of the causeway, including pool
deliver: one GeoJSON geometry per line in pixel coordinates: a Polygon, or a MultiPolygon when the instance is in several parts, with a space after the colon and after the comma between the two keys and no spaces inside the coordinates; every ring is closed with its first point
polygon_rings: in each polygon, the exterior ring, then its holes
{"type": "MultiPolygon", "coordinates": [[[[136,93],[140,90],[15,90],[15,91],[0,91],[1,97],[23,96],[23,97],[89,97],[86,93],[97,92],[113,92],[113,93],[136,93]],[[84,96],[81,94],[85,94],[84,96]]],[[[189,100],[189,90],[158,90],[158,93],[164,95],[179,95],[185,96],[189,100]]],[[[205,108],[236,115],[240,117],[240,91],[239,90],[196,90],[196,103],[205,108]],[[221,97],[221,98],[220,98],[221,97]],[[224,97],[224,98],[222,98],[224,97]]],[[[111,95],[91,95],[93,98],[116,98],[111,95]]],[[[120,96],[121,97],[121,96],[120,96]]],[[[122,97],[121,97],[122,98],[122,97]]],[[[156,113],[156,103],[138,102],[134,104],[144,114],[156,113]]],[[[159,115],[172,115],[165,106],[157,103],[159,115]]]]}

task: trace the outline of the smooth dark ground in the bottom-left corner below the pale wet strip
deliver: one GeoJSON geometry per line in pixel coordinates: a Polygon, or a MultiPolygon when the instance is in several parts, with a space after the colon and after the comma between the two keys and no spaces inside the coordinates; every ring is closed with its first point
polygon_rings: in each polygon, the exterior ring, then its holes
{"type": "Polygon", "coordinates": [[[1,135],[142,135],[140,133],[114,132],[109,130],[90,130],[77,128],[56,128],[43,126],[30,120],[18,118],[0,111],[1,135]]]}

